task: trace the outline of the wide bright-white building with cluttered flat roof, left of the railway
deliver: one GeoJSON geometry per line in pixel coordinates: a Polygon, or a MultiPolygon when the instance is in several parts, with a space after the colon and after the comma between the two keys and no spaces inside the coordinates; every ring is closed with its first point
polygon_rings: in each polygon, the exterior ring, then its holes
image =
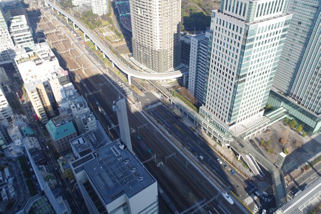
{"type": "Polygon", "coordinates": [[[15,62],[25,84],[37,79],[46,82],[48,76],[60,68],[58,59],[47,43],[36,44],[35,51],[16,56],[15,62]]]}

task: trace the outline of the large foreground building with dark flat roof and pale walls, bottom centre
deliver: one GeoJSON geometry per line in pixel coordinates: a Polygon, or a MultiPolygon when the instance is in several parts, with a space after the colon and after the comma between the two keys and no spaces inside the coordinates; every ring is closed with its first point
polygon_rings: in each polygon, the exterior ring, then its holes
{"type": "Polygon", "coordinates": [[[158,213],[157,181],[118,141],[71,167],[90,213],[158,213]]]}

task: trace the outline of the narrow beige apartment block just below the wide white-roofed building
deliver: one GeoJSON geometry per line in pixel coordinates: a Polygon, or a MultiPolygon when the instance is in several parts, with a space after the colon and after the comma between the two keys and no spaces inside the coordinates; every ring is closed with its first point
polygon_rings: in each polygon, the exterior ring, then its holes
{"type": "Polygon", "coordinates": [[[25,84],[30,102],[37,114],[38,119],[46,124],[48,118],[55,116],[49,97],[42,81],[36,80],[25,84]]]}

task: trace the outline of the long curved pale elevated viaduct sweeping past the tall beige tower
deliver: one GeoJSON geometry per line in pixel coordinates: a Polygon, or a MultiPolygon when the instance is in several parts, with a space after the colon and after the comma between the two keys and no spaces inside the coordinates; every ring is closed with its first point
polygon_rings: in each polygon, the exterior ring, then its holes
{"type": "Polygon", "coordinates": [[[49,0],[44,0],[44,2],[50,6],[52,9],[57,10],[59,13],[64,15],[66,19],[72,21],[82,32],[84,32],[85,36],[87,36],[97,48],[101,50],[101,52],[106,56],[117,68],[119,68],[122,72],[128,75],[128,83],[130,84],[130,77],[136,77],[140,79],[148,79],[148,80],[164,80],[164,79],[174,79],[183,76],[182,70],[176,70],[172,72],[166,73],[147,73],[141,72],[127,67],[123,64],[117,56],[115,56],[100,40],[98,36],[93,34],[91,30],[87,29],[81,22],[79,22],[75,17],[59,8],[57,5],[53,4],[49,0]]]}

